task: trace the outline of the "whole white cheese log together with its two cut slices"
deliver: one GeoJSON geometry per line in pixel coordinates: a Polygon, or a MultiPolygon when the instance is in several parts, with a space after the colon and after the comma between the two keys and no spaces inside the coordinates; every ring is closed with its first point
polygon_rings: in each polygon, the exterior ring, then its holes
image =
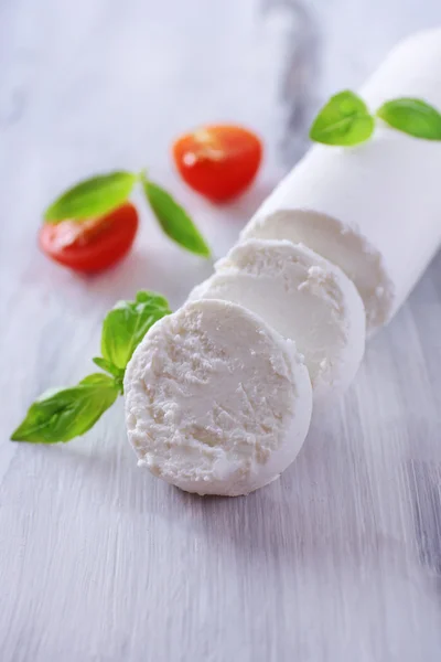
{"type": "MultiPolygon", "coordinates": [[[[399,44],[362,89],[441,107],[441,31],[399,44]]],[[[404,302],[441,242],[441,143],[387,127],[316,146],[125,380],[139,465],[200,494],[246,494],[299,452],[311,413],[340,395],[365,331],[404,302]]]]}

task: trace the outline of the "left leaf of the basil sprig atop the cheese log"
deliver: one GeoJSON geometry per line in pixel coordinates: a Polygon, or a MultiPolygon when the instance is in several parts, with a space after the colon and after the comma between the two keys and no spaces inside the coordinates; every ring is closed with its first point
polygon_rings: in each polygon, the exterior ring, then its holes
{"type": "Polygon", "coordinates": [[[375,120],[366,104],[346,89],[331,97],[310,129],[310,138],[324,145],[352,146],[367,140],[375,120]]]}

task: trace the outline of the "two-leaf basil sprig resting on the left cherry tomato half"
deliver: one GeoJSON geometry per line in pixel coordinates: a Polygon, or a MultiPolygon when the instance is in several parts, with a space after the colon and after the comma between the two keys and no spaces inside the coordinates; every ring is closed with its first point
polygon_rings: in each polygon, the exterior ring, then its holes
{"type": "Polygon", "coordinates": [[[144,197],[163,232],[176,244],[202,257],[209,248],[185,210],[164,189],[150,181],[146,172],[109,172],[93,177],[68,189],[44,213],[44,222],[56,224],[71,218],[80,223],[93,216],[104,216],[129,199],[141,183],[144,197]]]}

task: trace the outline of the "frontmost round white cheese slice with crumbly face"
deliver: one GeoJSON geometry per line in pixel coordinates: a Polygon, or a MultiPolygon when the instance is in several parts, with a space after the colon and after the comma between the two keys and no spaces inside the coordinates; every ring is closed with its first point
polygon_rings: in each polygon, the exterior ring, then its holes
{"type": "Polygon", "coordinates": [[[294,460],[312,409],[292,341],[241,306],[187,302],[161,319],[125,376],[139,466],[198,494],[247,494],[294,460]]]}

